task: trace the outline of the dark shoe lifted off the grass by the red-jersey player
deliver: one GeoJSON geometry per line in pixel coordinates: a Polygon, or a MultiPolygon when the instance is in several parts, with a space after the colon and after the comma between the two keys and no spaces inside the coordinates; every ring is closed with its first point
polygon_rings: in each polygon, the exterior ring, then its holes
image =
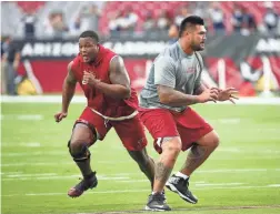
{"type": "Polygon", "coordinates": [[[91,175],[89,175],[88,179],[83,179],[79,184],[77,184],[74,187],[71,187],[68,191],[68,195],[70,197],[79,197],[84,191],[89,188],[96,187],[98,184],[98,180],[96,176],[96,172],[92,172],[91,175]]]}

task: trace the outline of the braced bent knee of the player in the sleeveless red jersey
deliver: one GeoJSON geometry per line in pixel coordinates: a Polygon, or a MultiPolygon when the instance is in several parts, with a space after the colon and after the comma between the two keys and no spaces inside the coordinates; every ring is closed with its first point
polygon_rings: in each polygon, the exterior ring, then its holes
{"type": "Polygon", "coordinates": [[[76,162],[83,162],[90,157],[89,143],[82,141],[70,141],[68,144],[69,153],[76,162]]]}

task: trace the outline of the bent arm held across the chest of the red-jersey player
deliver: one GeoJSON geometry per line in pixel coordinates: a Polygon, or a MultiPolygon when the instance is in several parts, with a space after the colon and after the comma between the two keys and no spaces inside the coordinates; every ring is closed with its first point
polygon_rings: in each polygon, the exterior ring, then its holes
{"type": "Polygon", "coordinates": [[[100,90],[108,96],[127,99],[130,96],[130,79],[121,57],[114,57],[110,62],[111,84],[94,80],[92,86],[100,90]]]}

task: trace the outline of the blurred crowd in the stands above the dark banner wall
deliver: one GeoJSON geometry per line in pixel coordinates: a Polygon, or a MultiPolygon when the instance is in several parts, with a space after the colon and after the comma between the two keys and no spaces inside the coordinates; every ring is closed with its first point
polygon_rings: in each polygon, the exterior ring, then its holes
{"type": "Polygon", "coordinates": [[[176,30],[188,14],[206,20],[211,33],[280,34],[280,2],[204,1],[16,1],[2,2],[2,34],[74,37],[87,29],[103,35],[176,30]]]}

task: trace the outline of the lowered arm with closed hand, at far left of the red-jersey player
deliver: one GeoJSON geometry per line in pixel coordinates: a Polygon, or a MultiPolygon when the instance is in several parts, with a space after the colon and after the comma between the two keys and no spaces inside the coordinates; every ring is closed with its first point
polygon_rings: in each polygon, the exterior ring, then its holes
{"type": "Polygon", "coordinates": [[[62,110],[61,112],[54,114],[56,122],[60,122],[63,118],[67,116],[69,104],[74,94],[77,80],[72,72],[72,61],[68,64],[68,74],[62,86],[62,110]]]}

